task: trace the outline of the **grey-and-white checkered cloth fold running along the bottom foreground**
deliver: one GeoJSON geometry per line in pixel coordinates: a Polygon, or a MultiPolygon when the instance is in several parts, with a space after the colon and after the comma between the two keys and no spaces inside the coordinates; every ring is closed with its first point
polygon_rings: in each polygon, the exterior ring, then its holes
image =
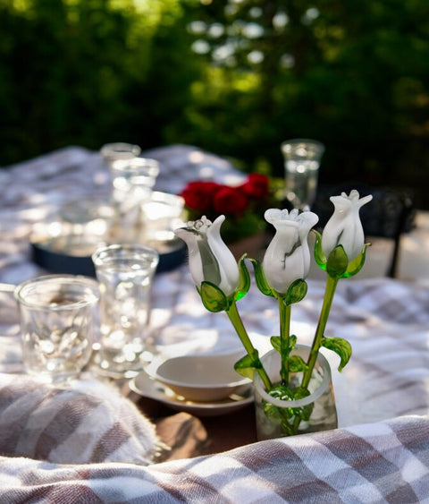
{"type": "Polygon", "coordinates": [[[408,416],[152,466],[0,457],[0,501],[429,502],[429,419],[408,416]]]}

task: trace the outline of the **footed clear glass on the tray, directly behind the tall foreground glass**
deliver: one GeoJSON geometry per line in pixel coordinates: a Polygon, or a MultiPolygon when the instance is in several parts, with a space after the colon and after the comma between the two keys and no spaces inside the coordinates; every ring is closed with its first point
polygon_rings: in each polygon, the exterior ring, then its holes
{"type": "Polygon", "coordinates": [[[122,159],[114,161],[110,171],[115,213],[111,241],[142,243],[145,239],[143,205],[150,200],[159,164],[151,158],[122,159]]]}

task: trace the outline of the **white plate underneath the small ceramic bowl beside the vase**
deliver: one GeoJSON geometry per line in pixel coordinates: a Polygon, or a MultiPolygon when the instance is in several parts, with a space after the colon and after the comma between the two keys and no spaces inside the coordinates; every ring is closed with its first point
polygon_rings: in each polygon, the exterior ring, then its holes
{"type": "Polygon", "coordinates": [[[232,413],[247,406],[254,400],[253,387],[251,385],[243,385],[234,395],[224,401],[194,403],[184,397],[176,396],[172,390],[165,387],[159,381],[150,378],[144,371],[140,372],[133,380],[130,380],[130,389],[137,392],[140,396],[156,399],[175,411],[184,411],[196,416],[215,416],[232,413]]]}

